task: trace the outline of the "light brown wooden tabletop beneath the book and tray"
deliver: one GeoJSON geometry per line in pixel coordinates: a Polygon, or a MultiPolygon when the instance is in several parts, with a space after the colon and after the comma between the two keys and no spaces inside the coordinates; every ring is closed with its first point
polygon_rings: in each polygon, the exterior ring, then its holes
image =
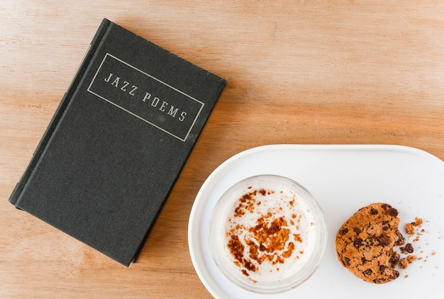
{"type": "Polygon", "coordinates": [[[48,2],[0,4],[1,298],[210,298],[189,212],[211,171],[251,147],[396,144],[444,159],[440,1],[48,2]],[[228,81],[128,269],[8,202],[104,17],[228,81]]]}

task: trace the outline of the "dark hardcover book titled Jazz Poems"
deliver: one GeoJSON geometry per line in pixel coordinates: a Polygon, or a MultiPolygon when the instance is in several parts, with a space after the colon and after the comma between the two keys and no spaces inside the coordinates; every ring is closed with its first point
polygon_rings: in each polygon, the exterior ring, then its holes
{"type": "Polygon", "coordinates": [[[104,19],[9,201],[129,266],[225,85],[104,19]]]}

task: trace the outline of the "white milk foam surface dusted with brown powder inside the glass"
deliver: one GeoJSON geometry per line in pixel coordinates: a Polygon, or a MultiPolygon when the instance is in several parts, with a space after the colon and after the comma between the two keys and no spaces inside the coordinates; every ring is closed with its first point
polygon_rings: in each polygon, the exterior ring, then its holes
{"type": "Polygon", "coordinates": [[[301,195],[282,188],[248,189],[226,215],[224,254],[232,271],[253,282],[281,281],[313,251],[316,223],[301,195]]]}

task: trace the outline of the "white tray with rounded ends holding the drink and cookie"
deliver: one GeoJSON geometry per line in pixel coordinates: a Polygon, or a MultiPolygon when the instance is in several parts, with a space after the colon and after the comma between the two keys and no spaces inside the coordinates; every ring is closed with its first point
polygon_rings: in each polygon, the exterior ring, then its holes
{"type": "Polygon", "coordinates": [[[397,145],[266,145],[236,154],[206,179],[189,218],[189,251],[199,278],[216,298],[444,298],[443,210],[444,162],[427,152],[397,145]],[[305,186],[321,205],[328,227],[326,253],[316,273],[278,295],[250,293],[228,281],[208,244],[209,217],[218,198],[257,174],[287,176],[305,186]],[[376,202],[399,210],[401,232],[416,217],[423,219],[424,230],[412,242],[419,259],[382,285],[353,276],[335,253],[343,222],[376,202]]]}

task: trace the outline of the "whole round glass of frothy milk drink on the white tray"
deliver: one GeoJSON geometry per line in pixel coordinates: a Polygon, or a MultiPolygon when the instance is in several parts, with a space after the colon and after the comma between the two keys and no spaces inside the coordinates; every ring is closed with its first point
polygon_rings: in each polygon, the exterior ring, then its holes
{"type": "Polygon", "coordinates": [[[311,193],[292,179],[267,174],[228,188],[213,208],[208,232],[223,275],[264,294],[304,283],[321,262],[327,239],[311,193]]]}

